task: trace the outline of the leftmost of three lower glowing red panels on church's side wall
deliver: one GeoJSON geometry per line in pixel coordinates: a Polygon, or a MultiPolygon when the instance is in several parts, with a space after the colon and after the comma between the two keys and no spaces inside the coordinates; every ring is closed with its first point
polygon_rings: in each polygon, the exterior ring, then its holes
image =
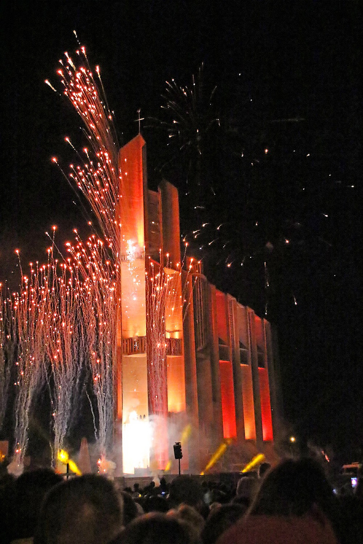
{"type": "Polygon", "coordinates": [[[235,438],[236,411],[235,394],[233,392],[233,369],[230,361],[219,361],[220,392],[222,395],[222,418],[224,438],[235,438]]]}

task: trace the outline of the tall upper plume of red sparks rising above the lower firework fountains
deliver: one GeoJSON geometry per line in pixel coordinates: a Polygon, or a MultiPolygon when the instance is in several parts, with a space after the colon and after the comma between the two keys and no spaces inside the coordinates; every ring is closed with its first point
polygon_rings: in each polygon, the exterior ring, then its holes
{"type": "MultiPolygon", "coordinates": [[[[103,96],[99,67],[95,69],[97,84],[85,48],[82,46],[76,54],[77,60],[73,62],[70,55],[65,53],[65,59],[60,60],[62,67],[57,73],[64,95],[82,118],[90,149],[84,147],[86,158],[82,165],[70,165],[70,178],[87,198],[104,236],[110,244],[114,244],[112,250],[116,254],[120,242],[120,172],[113,115],[103,96]]],[[[46,83],[50,85],[48,81],[46,83]]],[[[66,141],[73,147],[69,138],[66,141]]]]}

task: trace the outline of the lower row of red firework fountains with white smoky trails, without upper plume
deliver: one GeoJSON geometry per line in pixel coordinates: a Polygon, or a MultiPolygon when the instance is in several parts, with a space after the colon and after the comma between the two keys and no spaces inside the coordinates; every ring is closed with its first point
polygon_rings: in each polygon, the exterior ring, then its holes
{"type": "Polygon", "coordinates": [[[53,241],[47,264],[30,263],[27,275],[21,269],[18,292],[0,290],[0,416],[7,406],[8,363],[14,361],[14,453],[20,471],[39,392],[44,386],[50,392],[56,459],[65,446],[84,370],[97,401],[95,435],[102,458],[112,438],[118,270],[95,236],[83,245],[76,234],[76,244],[67,248],[71,257],[58,262],[53,241]]]}

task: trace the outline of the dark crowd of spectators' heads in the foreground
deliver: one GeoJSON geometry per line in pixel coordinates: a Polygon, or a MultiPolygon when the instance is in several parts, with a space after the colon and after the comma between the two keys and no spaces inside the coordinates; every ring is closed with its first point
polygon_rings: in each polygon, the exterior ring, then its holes
{"type": "Polygon", "coordinates": [[[50,469],[0,478],[2,544],[359,544],[361,482],[337,497],[311,459],[267,463],[235,484],[176,476],[119,490],[50,469]],[[236,485],[237,484],[237,485],[236,485]]]}

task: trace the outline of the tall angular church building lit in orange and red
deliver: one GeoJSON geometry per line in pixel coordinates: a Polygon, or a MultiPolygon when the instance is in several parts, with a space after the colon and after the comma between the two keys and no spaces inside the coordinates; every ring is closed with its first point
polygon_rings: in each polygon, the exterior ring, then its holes
{"type": "Polygon", "coordinates": [[[226,440],[241,462],[244,451],[246,461],[267,455],[280,418],[272,327],[193,259],[181,269],[177,189],[147,188],[140,134],[120,150],[119,167],[119,472],[175,471],[175,442],[182,469],[195,473],[226,440]]]}

